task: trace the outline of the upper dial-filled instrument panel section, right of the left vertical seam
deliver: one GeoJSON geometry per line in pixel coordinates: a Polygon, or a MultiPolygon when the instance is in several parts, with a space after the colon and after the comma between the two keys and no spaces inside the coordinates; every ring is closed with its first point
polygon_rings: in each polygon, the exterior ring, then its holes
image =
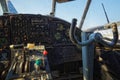
{"type": "Polygon", "coordinates": [[[10,16],[11,44],[70,43],[68,31],[70,24],[50,16],[20,14],[10,16]]]}

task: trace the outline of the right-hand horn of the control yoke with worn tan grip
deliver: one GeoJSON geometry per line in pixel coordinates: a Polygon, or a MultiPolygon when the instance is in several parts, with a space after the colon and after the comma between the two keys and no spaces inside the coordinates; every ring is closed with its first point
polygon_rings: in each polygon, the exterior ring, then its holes
{"type": "Polygon", "coordinates": [[[117,24],[112,23],[112,24],[110,24],[108,26],[105,26],[105,28],[112,28],[113,40],[111,42],[104,41],[103,38],[102,38],[102,35],[100,35],[100,33],[97,33],[99,35],[97,37],[95,37],[95,41],[98,42],[98,43],[103,44],[104,46],[113,47],[118,41],[117,24]]]}

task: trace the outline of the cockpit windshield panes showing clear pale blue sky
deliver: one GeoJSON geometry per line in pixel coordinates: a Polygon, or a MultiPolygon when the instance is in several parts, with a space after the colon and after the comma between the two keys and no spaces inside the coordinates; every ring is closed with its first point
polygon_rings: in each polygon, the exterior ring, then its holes
{"type": "MultiPolygon", "coordinates": [[[[77,18],[77,25],[79,25],[86,1],[75,0],[66,3],[57,3],[55,16],[68,22],[71,22],[73,18],[77,18]]],[[[49,15],[52,10],[52,0],[11,0],[11,2],[18,13],[23,14],[49,15]]],[[[120,20],[120,0],[92,0],[83,29],[107,23],[102,3],[110,22],[120,20]]]]}

